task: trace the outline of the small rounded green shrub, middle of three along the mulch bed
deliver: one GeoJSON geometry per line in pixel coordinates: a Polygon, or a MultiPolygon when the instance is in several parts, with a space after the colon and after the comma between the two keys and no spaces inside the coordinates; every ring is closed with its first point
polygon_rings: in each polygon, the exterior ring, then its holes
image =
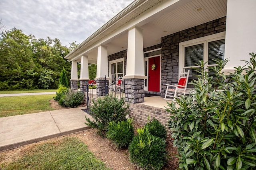
{"type": "Polygon", "coordinates": [[[117,123],[110,122],[106,136],[113,141],[118,148],[128,147],[134,137],[132,119],[117,123]]]}

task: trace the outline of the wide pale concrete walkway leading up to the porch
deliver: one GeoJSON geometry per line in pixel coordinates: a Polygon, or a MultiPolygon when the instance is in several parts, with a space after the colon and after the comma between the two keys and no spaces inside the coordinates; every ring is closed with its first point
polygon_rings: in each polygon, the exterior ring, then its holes
{"type": "Polygon", "coordinates": [[[86,107],[0,118],[0,151],[90,129],[84,124],[86,107]]]}

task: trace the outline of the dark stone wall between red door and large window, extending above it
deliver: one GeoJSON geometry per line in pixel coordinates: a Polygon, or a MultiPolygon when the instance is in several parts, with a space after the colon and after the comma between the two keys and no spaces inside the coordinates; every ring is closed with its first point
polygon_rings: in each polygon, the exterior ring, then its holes
{"type": "Polygon", "coordinates": [[[226,17],[162,37],[161,97],[166,91],[165,84],[178,83],[179,43],[226,30],[226,17]]]}

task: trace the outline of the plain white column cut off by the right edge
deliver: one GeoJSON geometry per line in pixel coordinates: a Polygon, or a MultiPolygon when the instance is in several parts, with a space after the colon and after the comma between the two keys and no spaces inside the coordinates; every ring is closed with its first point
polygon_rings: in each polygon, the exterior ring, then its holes
{"type": "Polygon", "coordinates": [[[256,53],[256,0],[228,0],[226,20],[225,59],[229,62],[224,71],[244,66],[249,53],[256,53]]]}

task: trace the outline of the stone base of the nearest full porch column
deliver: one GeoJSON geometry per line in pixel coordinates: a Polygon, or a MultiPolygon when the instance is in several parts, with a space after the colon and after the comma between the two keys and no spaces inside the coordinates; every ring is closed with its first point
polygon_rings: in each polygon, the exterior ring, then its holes
{"type": "Polygon", "coordinates": [[[144,102],[144,79],[125,79],[125,101],[131,103],[144,102]]]}

